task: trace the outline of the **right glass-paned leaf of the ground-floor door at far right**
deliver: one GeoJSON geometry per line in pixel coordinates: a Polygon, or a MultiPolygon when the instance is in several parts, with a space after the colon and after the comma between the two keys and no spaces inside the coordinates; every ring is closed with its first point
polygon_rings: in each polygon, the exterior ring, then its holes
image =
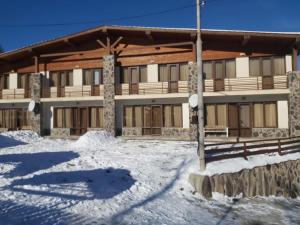
{"type": "Polygon", "coordinates": [[[251,110],[249,104],[243,104],[239,107],[239,126],[240,137],[251,137],[251,110]]]}

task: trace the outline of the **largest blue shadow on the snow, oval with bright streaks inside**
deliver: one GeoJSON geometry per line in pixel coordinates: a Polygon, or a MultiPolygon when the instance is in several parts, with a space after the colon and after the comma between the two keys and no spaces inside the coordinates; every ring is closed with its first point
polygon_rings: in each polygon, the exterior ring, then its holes
{"type": "Polygon", "coordinates": [[[9,189],[69,200],[92,200],[112,198],[130,189],[134,183],[128,170],[107,168],[45,173],[16,180],[9,189]]]}

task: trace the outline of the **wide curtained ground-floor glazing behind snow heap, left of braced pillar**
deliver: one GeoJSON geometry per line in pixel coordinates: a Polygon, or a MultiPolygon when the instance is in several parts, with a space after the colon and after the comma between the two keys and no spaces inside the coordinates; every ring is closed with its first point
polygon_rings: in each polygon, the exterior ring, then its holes
{"type": "Polygon", "coordinates": [[[102,128],[103,107],[55,108],[55,128],[102,128]]]}

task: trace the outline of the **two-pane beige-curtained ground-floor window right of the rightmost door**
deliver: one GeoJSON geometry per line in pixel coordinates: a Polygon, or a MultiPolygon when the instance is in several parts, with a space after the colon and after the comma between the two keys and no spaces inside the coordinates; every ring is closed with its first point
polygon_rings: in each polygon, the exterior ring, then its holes
{"type": "Polygon", "coordinates": [[[253,126],[255,128],[277,127],[277,107],[276,103],[254,103],[253,105],[253,126]]]}

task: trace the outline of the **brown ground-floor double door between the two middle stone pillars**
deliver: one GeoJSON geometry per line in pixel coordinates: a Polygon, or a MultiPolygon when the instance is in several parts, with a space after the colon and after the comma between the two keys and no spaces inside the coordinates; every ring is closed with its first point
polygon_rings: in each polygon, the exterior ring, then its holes
{"type": "Polygon", "coordinates": [[[162,106],[144,106],[143,135],[161,135],[162,106]]]}

